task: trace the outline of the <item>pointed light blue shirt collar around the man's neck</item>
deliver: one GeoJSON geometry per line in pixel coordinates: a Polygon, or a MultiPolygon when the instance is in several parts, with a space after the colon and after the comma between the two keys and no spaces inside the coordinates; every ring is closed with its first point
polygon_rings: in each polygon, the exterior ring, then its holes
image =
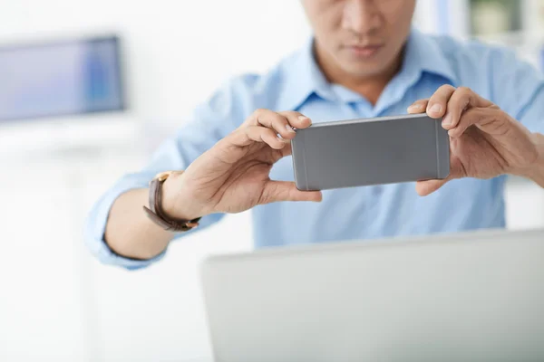
{"type": "MultiPolygon", "coordinates": [[[[325,100],[339,100],[337,91],[326,80],[316,62],[313,37],[282,67],[285,78],[277,104],[279,109],[296,110],[313,94],[325,100]]],[[[438,43],[430,35],[413,29],[406,42],[403,67],[397,74],[397,78],[401,79],[397,81],[402,80],[405,86],[410,86],[424,72],[441,76],[452,84],[457,82],[455,72],[438,43]]],[[[349,94],[349,91],[343,92],[341,100],[352,101],[345,97],[349,94]]]]}

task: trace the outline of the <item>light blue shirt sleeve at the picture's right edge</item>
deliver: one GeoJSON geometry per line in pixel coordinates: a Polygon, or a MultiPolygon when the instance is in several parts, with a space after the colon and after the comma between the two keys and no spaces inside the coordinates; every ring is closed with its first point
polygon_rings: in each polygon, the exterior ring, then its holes
{"type": "Polygon", "coordinates": [[[530,131],[544,133],[544,72],[511,50],[490,55],[493,101],[530,131]]]}

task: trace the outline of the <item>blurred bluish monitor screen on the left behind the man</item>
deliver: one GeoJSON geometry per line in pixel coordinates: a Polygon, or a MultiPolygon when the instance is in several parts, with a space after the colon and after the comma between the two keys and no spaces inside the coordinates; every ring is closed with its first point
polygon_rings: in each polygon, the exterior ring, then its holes
{"type": "Polygon", "coordinates": [[[119,40],[0,46],[0,121],[123,110],[119,40]]]}

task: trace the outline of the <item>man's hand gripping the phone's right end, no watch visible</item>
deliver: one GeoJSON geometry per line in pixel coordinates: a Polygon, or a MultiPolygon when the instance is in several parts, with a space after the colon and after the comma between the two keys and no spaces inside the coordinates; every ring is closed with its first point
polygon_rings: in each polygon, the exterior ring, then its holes
{"type": "Polygon", "coordinates": [[[451,171],[444,180],[420,181],[416,190],[429,195],[461,177],[492,178],[526,174],[539,158],[535,135],[490,100],[468,88],[444,85],[429,100],[418,100],[409,113],[442,119],[451,143],[451,171]]]}

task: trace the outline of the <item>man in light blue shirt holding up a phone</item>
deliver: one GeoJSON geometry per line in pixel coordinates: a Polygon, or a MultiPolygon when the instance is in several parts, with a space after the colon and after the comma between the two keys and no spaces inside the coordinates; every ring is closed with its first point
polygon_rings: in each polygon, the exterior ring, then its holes
{"type": "Polygon", "coordinates": [[[506,50],[414,31],[415,0],[302,4],[314,36],[300,52],[230,81],[97,202],[86,241],[102,262],[150,265],[196,224],[250,208],[257,247],[502,227],[505,175],[544,187],[538,71],[506,50]],[[296,189],[292,128],[406,110],[443,117],[448,179],[296,189]],[[176,172],[154,178],[164,171],[176,172]]]}

